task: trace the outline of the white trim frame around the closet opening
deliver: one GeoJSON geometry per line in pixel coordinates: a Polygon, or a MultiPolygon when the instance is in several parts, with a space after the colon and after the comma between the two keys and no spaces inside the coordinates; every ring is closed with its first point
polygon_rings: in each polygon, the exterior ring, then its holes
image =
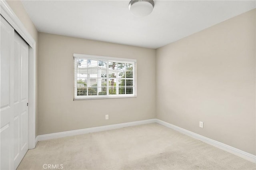
{"type": "Polygon", "coordinates": [[[28,149],[36,146],[36,41],[5,0],[0,0],[0,14],[28,43],[28,149]]]}

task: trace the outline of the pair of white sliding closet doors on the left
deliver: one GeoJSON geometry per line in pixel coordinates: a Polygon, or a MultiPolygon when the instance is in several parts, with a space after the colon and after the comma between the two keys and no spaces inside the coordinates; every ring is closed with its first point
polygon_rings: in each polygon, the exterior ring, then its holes
{"type": "Polygon", "coordinates": [[[28,150],[28,44],[1,16],[0,168],[16,169],[28,150]]]}

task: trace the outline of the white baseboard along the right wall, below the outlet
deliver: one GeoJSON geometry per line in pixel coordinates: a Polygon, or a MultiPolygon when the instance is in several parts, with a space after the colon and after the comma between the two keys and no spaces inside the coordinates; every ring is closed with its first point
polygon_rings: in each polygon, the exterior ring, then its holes
{"type": "Polygon", "coordinates": [[[256,156],[253,155],[253,154],[250,154],[248,152],[244,152],[240,149],[237,149],[237,148],[234,148],[232,146],[229,146],[227,144],[224,144],[224,143],[221,143],[221,142],[218,142],[216,140],[212,140],[210,138],[207,138],[207,137],[204,137],[200,134],[196,134],[194,132],[190,132],[189,130],[186,130],[184,128],[180,128],[180,127],[177,127],[175,125],[172,125],[170,123],[167,123],[167,122],[164,122],[164,121],[161,121],[159,119],[156,119],[156,123],[160,124],[160,125],[164,125],[165,127],[168,127],[168,128],[172,128],[178,132],[181,132],[183,134],[186,134],[192,138],[196,138],[198,140],[201,140],[202,142],[205,142],[207,144],[210,144],[212,146],[215,146],[216,148],[220,148],[222,150],[225,150],[231,154],[234,154],[236,156],[239,156],[241,158],[244,158],[250,162],[253,162],[253,163],[256,163],[256,156]]]}

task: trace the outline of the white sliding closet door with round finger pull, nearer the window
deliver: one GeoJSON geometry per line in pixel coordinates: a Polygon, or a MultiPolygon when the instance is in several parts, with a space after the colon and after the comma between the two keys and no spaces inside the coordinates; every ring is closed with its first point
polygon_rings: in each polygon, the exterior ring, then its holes
{"type": "Polygon", "coordinates": [[[14,34],[14,168],[28,151],[28,44],[14,34]]]}

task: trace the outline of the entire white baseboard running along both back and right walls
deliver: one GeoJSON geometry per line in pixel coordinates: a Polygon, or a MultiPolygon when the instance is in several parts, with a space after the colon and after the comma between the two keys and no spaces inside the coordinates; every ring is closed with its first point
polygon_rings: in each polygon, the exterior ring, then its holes
{"type": "Polygon", "coordinates": [[[181,132],[183,134],[186,134],[192,138],[196,138],[198,140],[201,140],[202,142],[205,142],[207,144],[215,146],[216,148],[220,148],[220,149],[225,150],[231,154],[234,154],[236,156],[244,158],[245,160],[256,163],[256,156],[253,154],[244,152],[240,149],[234,148],[232,146],[218,142],[216,140],[212,140],[212,139],[202,136],[200,134],[196,134],[194,132],[191,132],[184,128],[177,127],[175,125],[161,121],[159,119],[148,119],[148,120],[144,120],[144,121],[120,123],[120,124],[107,125],[107,126],[102,126],[102,127],[84,128],[84,129],[79,129],[79,130],[70,130],[70,131],[66,131],[66,132],[38,135],[38,136],[36,136],[36,139],[35,139],[35,145],[37,144],[38,141],[42,141],[42,140],[63,138],[63,137],[67,137],[67,136],[74,136],[74,135],[86,134],[86,133],[92,133],[92,132],[100,132],[100,131],[104,131],[104,130],[112,130],[112,129],[123,128],[123,127],[143,125],[143,124],[148,124],[148,123],[158,123],[160,125],[164,125],[165,127],[172,128],[172,129],[174,129],[178,132],[181,132]]]}

